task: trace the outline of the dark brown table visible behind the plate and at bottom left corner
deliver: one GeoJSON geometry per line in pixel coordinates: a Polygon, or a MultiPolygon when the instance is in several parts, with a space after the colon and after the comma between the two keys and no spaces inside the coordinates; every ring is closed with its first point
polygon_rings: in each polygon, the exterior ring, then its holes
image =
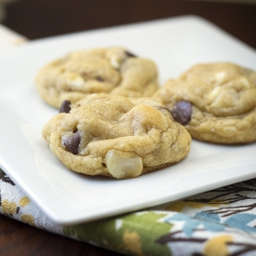
{"type": "MultiPolygon", "coordinates": [[[[38,39],[146,20],[194,14],[256,48],[256,4],[193,0],[18,0],[7,6],[7,28],[38,39]]],[[[50,234],[0,215],[0,254],[121,255],[50,234]],[[21,251],[21,252],[20,252],[21,251]]]]}

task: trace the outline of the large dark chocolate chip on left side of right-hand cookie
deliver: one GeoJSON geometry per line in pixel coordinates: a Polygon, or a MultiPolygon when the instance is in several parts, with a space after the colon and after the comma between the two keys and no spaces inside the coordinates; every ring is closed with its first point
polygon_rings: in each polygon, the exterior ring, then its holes
{"type": "Polygon", "coordinates": [[[188,101],[178,101],[171,110],[171,115],[176,122],[186,125],[191,120],[192,104],[188,101]]]}

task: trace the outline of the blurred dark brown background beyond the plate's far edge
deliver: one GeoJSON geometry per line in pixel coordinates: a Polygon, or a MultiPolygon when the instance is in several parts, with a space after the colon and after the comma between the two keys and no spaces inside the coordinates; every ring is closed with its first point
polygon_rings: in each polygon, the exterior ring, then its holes
{"type": "Polygon", "coordinates": [[[256,0],[0,0],[0,7],[0,22],[28,39],[195,14],[256,47],[256,0]]]}

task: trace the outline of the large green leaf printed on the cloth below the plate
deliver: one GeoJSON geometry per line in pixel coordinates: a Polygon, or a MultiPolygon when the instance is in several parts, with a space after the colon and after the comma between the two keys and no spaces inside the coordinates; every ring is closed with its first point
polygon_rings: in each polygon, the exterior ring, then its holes
{"type": "Polygon", "coordinates": [[[170,232],[171,225],[158,222],[167,214],[141,211],[63,228],[65,236],[118,251],[126,255],[171,255],[167,245],[155,241],[170,232]]]}

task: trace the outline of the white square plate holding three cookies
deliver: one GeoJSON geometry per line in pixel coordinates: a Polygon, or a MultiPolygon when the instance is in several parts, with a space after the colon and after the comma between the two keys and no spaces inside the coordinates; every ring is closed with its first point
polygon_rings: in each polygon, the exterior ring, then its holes
{"type": "Polygon", "coordinates": [[[255,68],[256,52],[207,20],[184,16],[36,40],[0,54],[0,165],[55,222],[88,222],[195,195],[256,177],[256,143],[193,141],[181,163],[116,181],[65,168],[41,137],[57,110],[34,88],[48,61],[91,47],[122,46],[156,62],[160,83],[197,62],[232,61],[255,68]]]}

